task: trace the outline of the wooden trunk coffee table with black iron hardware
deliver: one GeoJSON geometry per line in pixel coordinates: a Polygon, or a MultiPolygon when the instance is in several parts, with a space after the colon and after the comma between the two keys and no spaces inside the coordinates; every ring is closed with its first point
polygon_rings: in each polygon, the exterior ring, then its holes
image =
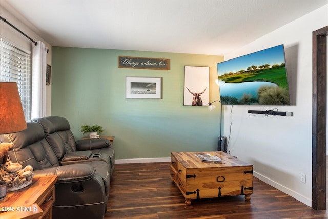
{"type": "Polygon", "coordinates": [[[253,165],[222,151],[172,152],[171,178],[178,186],[186,204],[192,199],[245,195],[253,193],[253,165]],[[209,153],[222,162],[203,162],[194,154],[209,153]]]}

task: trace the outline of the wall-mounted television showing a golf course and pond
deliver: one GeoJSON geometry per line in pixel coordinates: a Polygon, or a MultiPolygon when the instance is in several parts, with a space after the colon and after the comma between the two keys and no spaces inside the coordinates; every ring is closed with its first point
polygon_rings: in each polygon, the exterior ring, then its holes
{"type": "Polygon", "coordinates": [[[283,45],[217,64],[222,105],[290,105],[283,45]]]}

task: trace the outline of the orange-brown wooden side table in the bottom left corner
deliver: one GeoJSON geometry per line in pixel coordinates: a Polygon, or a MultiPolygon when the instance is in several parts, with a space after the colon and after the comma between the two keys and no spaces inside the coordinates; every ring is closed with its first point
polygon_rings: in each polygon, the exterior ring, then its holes
{"type": "Polygon", "coordinates": [[[0,218],[52,218],[56,175],[33,177],[32,184],[8,192],[0,201],[0,218]]]}

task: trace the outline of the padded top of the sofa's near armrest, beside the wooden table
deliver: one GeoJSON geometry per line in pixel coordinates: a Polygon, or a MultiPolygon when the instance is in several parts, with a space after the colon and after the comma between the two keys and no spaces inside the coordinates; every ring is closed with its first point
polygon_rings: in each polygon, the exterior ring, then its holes
{"type": "Polygon", "coordinates": [[[90,180],[95,176],[96,170],[89,164],[71,164],[33,172],[35,176],[57,175],[57,183],[67,183],[90,180]]]}

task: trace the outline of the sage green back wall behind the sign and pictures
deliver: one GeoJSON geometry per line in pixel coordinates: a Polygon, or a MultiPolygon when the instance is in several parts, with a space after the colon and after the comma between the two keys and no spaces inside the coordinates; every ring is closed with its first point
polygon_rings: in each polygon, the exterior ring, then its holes
{"type": "Polygon", "coordinates": [[[172,151],[212,151],[220,107],[183,106],[184,66],[210,67],[210,101],[219,98],[216,63],[223,56],[52,47],[52,115],[115,136],[116,159],[170,157],[172,151]],[[170,59],[170,70],[118,68],[118,56],[170,59]],[[126,99],[127,76],[162,77],[162,99],[126,99]]]}

